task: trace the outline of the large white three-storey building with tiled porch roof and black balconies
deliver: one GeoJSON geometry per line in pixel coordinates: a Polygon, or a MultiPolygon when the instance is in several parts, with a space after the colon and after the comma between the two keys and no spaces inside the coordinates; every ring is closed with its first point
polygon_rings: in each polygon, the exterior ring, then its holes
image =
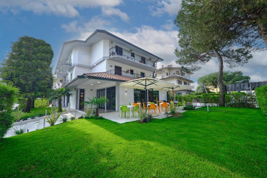
{"type": "MultiPolygon", "coordinates": [[[[144,76],[152,77],[162,58],[141,49],[105,30],[96,30],[85,41],[63,43],[56,66],[56,88],[72,89],[73,97],[62,105],[83,109],[87,97],[106,96],[110,103],[103,109],[119,110],[120,104],[144,102],[144,90],[125,88],[119,83],[144,76]]],[[[163,91],[148,91],[149,101],[167,100],[163,91]]]]}

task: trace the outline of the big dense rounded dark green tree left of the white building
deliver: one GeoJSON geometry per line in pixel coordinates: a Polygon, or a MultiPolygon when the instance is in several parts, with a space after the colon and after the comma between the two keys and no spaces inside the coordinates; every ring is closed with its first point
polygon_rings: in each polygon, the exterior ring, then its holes
{"type": "Polygon", "coordinates": [[[52,58],[51,46],[42,39],[23,36],[12,42],[11,52],[0,68],[0,78],[13,83],[28,98],[25,112],[30,112],[34,96],[52,88],[52,58]]]}

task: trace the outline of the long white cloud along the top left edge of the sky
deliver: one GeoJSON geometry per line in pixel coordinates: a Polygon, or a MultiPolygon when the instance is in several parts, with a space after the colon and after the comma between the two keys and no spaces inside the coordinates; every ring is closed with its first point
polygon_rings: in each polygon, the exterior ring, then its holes
{"type": "Polygon", "coordinates": [[[122,0],[3,0],[0,1],[0,10],[6,12],[10,10],[15,14],[18,10],[33,11],[35,14],[56,14],[66,17],[79,16],[76,8],[88,7],[114,7],[119,5],[122,0]]]}

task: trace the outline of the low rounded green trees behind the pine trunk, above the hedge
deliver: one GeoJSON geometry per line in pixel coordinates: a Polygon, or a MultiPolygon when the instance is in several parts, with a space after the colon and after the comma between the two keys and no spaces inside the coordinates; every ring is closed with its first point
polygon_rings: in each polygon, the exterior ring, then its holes
{"type": "MultiPolygon", "coordinates": [[[[218,76],[219,76],[218,72],[213,72],[205,76],[199,77],[198,85],[205,86],[203,88],[205,88],[206,93],[208,93],[207,87],[213,87],[213,88],[218,87],[218,82],[217,82],[218,76]]],[[[223,71],[222,82],[224,85],[247,83],[249,82],[249,80],[250,77],[243,75],[241,71],[235,71],[235,72],[223,71]]]]}

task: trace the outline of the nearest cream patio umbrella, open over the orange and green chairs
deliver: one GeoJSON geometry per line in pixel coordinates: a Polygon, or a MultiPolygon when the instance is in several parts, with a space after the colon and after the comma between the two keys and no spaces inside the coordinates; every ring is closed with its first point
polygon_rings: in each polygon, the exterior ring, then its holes
{"type": "Polygon", "coordinates": [[[147,89],[155,89],[155,88],[164,88],[164,87],[176,87],[174,83],[167,82],[164,80],[159,80],[152,77],[144,77],[138,78],[135,80],[131,80],[128,82],[120,83],[120,86],[125,86],[129,88],[136,88],[136,89],[145,89],[146,92],[146,103],[147,103],[147,89]]]}

